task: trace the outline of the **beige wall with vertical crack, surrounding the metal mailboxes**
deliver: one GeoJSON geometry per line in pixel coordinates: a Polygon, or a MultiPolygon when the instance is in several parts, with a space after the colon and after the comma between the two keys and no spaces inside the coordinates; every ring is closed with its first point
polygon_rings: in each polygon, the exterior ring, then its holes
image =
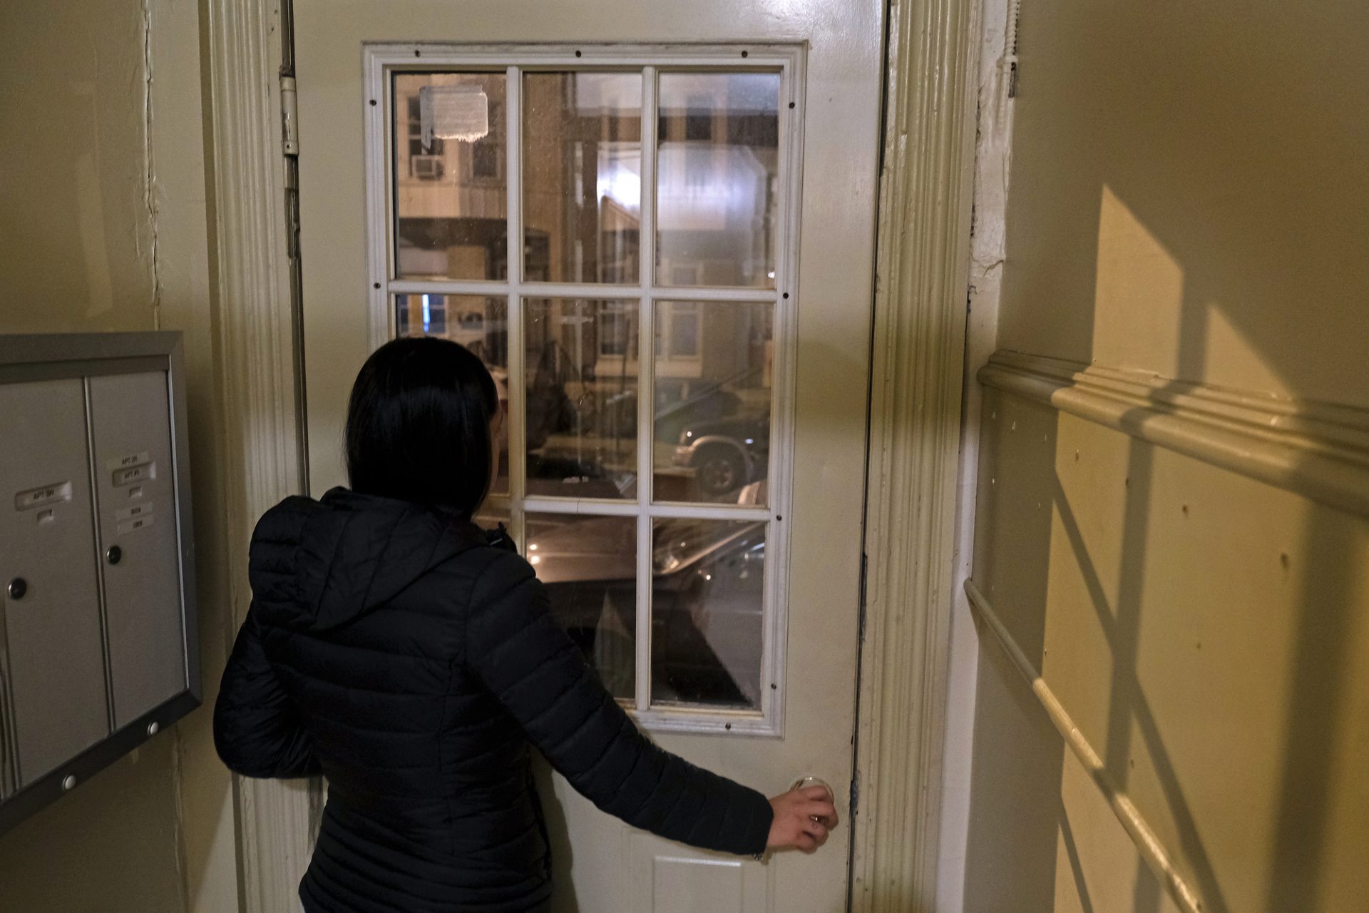
{"type": "MultiPolygon", "coordinates": [[[[0,4],[0,333],[182,330],[207,702],[229,642],[193,0],[0,4]]],[[[209,712],[0,838],[3,906],[237,910],[209,712]]]]}

